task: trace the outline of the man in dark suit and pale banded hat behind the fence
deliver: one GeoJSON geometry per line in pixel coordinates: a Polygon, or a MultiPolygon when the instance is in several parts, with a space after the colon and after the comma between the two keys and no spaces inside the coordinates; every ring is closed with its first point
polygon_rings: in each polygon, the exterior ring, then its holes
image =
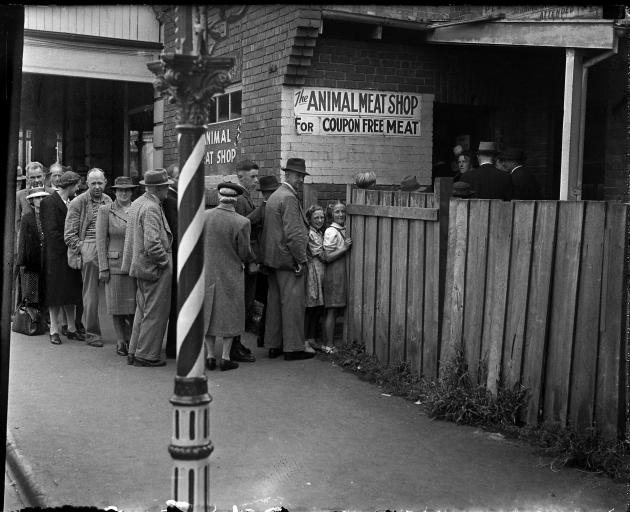
{"type": "Polygon", "coordinates": [[[494,166],[498,151],[494,142],[479,143],[477,159],[479,167],[462,175],[461,181],[468,183],[476,192],[478,199],[503,199],[509,201],[512,198],[512,180],[506,172],[500,171],[494,166]]]}

